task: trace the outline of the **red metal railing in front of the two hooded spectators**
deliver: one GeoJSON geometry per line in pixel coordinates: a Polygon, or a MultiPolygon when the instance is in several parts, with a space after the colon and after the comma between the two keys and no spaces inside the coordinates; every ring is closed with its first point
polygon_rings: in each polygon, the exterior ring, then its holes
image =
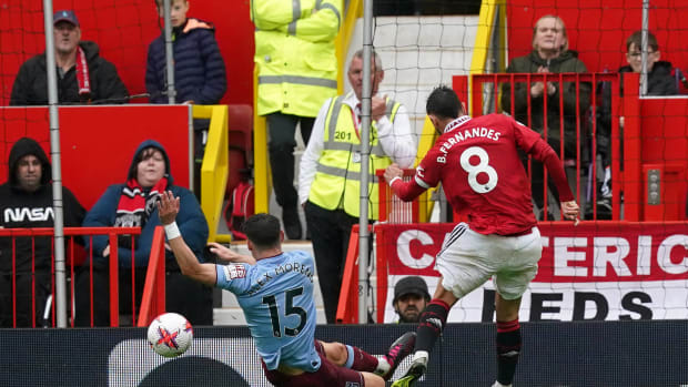
{"type": "MultiPolygon", "coordinates": [[[[165,265],[164,232],[156,227],[153,237],[151,256],[145,269],[143,289],[135,289],[136,271],[134,267],[134,236],[141,234],[139,227],[64,227],[65,264],[68,273],[68,310],[70,327],[94,326],[94,307],[107,305],[109,312],[108,326],[120,326],[120,305],[129,304],[133,310],[128,325],[146,326],[154,316],[165,308],[165,265]],[[97,259],[101,252],[93,251],[93,237],[107,236],[110,255],[104,263],[97,259]],[[122,244],[123,241],[129,243],[122,244]],[[88,242],[89,248],[84,248],[88,242]],[[121,257],[119,247],[131,248],[131,256],[121,257]],[[129,299],[121,299],[120,259],[131,259],[130,283],[132,288],[125,289],[129,299]],[[104,266],[102,266],[104,264],[104,266]],[[108,293],[94,292],[94,267],[107,271],[108,293]],[[78,288],[77,284],[82,284],[78,288]],[[85,294],[84,294],[85,293],[85,294]],[[77,298],[83,299],[78,303],[77,298]],[[79,310],[77,305],[88,305],[89,310],[79,310]],[[87,316],[77,318],[77,314],[87,316]],[[82,322],[78,324],[77,322],[82,322]]],[[[0,228],[0,245],[11,256],[3,256],[9,265],[2,268],[2,297],[0,319],[2,327],[55,327],[55,265],[54,240],[52,228],[0,228]],[[22,254],[27,253],[29,256],[22,254]],[[22,248],[18,248],[22,247],[22,248]],[[6,271],[9,268],[9,271],[6,271]]]]}

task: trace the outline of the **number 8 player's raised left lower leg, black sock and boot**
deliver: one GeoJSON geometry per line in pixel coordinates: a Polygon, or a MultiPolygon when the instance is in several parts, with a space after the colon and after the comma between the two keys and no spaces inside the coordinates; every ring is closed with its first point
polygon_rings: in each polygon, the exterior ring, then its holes
{"type": "Polygon", "coordinates": [[[449,309],[457,301],[458,298],[451,291],[442,286],[441,278],[433,299],[421,314],[418,329],[416,330],[416,347],[411,366],[402,378],[392,384],[392,387],[414,386],[425,374],[429,352],[446,325],[449,309]]]}

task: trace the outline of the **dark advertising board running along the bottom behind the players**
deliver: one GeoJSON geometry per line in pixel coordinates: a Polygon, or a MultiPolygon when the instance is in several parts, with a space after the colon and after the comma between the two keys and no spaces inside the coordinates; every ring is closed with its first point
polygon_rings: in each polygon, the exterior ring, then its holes
{"type": "MultiPolygon", "coordinates": [[[[654,386],[688,383],[685,320],[524,323],[516,386],[654,386]]],[[[411,325],[318,326],[381,355],[411,325]]],[[[148,346],[144,328],[1,329],[2,386],[270,386],[247,328],[194,330],[180,358],[148,346]]],[[[493,324],[451,324],[419,386],[488,386],[496,375],[493,324]]],[[[402,374],[409,359],[397,369],[402,374]]]]}

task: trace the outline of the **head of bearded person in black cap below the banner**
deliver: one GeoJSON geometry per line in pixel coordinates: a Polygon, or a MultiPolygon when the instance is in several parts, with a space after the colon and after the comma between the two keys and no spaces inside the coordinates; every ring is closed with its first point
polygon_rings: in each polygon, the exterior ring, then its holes
{"type": "Polygon", "coordinates": [[[412,275],[399,279],[394,285],[394,299],[392,305],[399,315],[398,323],[417,323],[421,312],[431,301],[425,279],[412,275]]]}

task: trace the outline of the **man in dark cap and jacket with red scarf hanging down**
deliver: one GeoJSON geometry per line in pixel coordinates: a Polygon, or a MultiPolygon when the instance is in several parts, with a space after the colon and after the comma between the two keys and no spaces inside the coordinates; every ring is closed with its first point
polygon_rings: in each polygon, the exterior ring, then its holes
{"type": "MultiPolygon", "coordinates": [[[[124,103],[129,92],[114,64],[101,58],[99,47],[81,40],[79,19],[72,10],[52,17],[60,104],[124,103]]],[[[26,61],[17,73],[10,105],[48,104],[45,53],[26,61]]]]}

